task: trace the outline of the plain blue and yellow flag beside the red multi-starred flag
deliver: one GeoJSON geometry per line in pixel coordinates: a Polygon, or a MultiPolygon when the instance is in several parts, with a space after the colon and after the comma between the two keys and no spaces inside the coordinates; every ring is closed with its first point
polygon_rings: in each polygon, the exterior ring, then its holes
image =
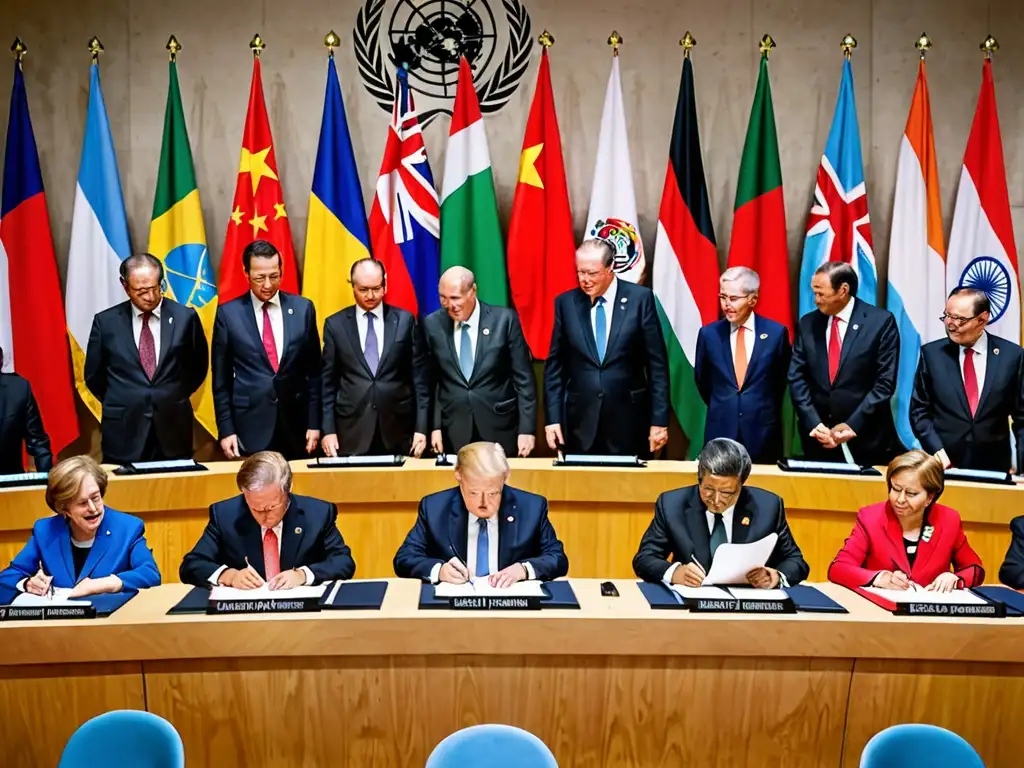
{"type": "Polygon", "coordinates": [[[302,295],[313,302],[317,317],[326,321],[354,303],[347,285],[348,272],[354,262],[369,256],[367,209],[332,53],[328,60],[324,120],[309,194],[302,276],[302,295]]]}

